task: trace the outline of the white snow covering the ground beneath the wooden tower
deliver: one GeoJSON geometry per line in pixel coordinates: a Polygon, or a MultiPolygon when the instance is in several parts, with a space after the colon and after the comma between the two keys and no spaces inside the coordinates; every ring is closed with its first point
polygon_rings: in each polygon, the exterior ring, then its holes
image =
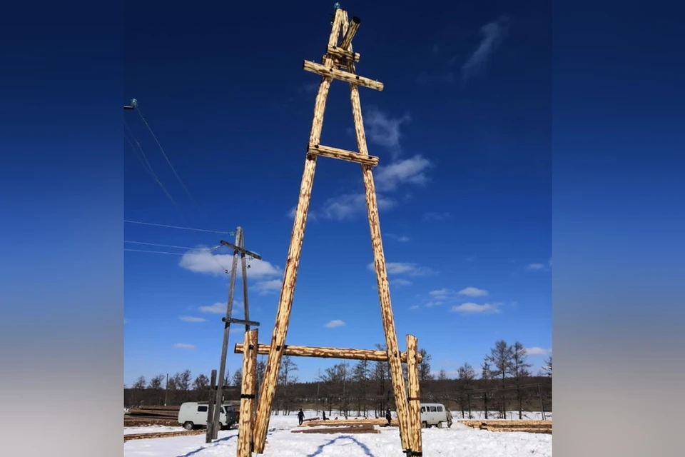
{"type": "MultiPolygon", "coordinates": [[[[529,418],[541,418],[527,413],[529,418]]],[[[314,411],[305,411],[315,417],[314,411]]],[[[539,433],[490,432],[462,426],[456,421],[461,413],[454,413],[452,428],[428,428],[423,432],[425,456],[445,457],[523,457],[552,456],[552,436],[539,433]]],[[[508,416],[508,414],[507,414],[508,416]]],[[[518,416],[518,414],[516,414],[518,416]]],[[[335,417],[335,414],[333,415],[335,417]]],[[[474,414],[476,418],[476,414],[474,414]]],[[[378,434],[336,433],[318,435],[291,433],[298,428],[296,413],[290,416],[271,416],[264,457],[402,457],[400,432],[397,428],[382,428],[378,434]]],[[[124,433],[159,433],[176,427],[127,427],[124,433]],[[133,431],[136,430],[136,431],[133,431]]],[[[219,439],[205,444],[204,435],[151,438],[123,443],[126,457],[210,457],[235,456],[238,431],[220,431],[219,439]]]]}

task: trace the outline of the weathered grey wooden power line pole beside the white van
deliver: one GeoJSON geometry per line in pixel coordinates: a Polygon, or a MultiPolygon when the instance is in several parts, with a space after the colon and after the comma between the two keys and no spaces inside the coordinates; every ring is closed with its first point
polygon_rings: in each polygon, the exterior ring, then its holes
{"type": "MultiPolygon", "coordinates": [[[[224,376],[226,371],[226,355],[228,354],[228,334],[230,332],[231,323],[241,323],[245,325],[245,331],[250,330],[250,326],[259,326],[258,322],[249,321],[250,312],[248,309],[248,275],[247,263],[245,263],[245,256],[261,260],[261,256],[245,249],[245,240],[243,229],[238,227],[235,231],[235,244],[228,243],[228,241],[221,240],[220,243],[228,248],[233,248],[233,263],[230,268],[230,285],[228,286],[228,302],[226,303],[226,316],[221,318],[223,321],[223,344],[221,346],[221,360],[219,363],[219,373],[217,376],[216,395],[214,397],[214,414],[213,417],[208,417],[208,428],[212,430],[212,438],[217,439],[219,433],[219,422],[221,414],[221,406],[223,405],[223,386],[224,376]],[[241,273],[243,276],[243,310],[245,319],[234,319],[233,315],[233,294],[235,292],[235,276],[238,273],[238,254],[241,258],[241,273]],[[211,421],[211,424],[210,424],[211,421]]],[[[243,373],[244,376],[244,373],[243,373]]]]}

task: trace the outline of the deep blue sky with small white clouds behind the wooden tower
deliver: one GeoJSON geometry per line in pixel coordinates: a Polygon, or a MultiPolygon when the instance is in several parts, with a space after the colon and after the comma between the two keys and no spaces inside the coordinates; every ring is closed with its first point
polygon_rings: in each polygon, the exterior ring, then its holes
{"type": "MultiPolygon", "coordinates": [[[[126,5],[124,115],[153,171],[124,142],[125,218],[245,229],[250,318],[273,329],[333,2],[286,7],[178,1],[126,5]],[[330,3],[330,4],[329,4],[330,3]],[[172,201],[173,200],[173,201],[172,201]],[[197,203],[197,204],[196,204],[197,203]]],[[[542,1],[345,1],[362,24],[357,73],[375,169],[400,347],[419,338],[437,371],[480,366],[497,339],[552,348],[551,16],[542,1]],[[391,8],[392,6],[392,8],[391,8]]],[[[349,88],[333,81],[322,144],[355,149],[349,88]]],[[[372,348],[384,341],[363,184],[355,164],[319,159],[287,341],[372,348]],[[333,325],[327,325],[333,323],[333,325]],[[343,323],[335,325],[335,323],[343,323]]],[[[220,233],[125,224],[125,374],[218,368],[230,252],[220,233]],[[135,243],[133,243],[135,242],[135,243]],[[164,246],[146,245],[155,243],[164,246]],[[177,246],[177,247],[170,247],[177,246]],[[178,247],[180,246],[180,247],[178,247]],[[164,253],[161,253],[164,252],[164,253]]],[[[237,316],[242,294],[236,293],[237,316]]],[[[242,340],[240,327],[230,348],[242,340]]],[[[298,358],[310,380],[333,361],[298,358]]],[[[230,353],[228,369],[240,366],[230,353]]]]}

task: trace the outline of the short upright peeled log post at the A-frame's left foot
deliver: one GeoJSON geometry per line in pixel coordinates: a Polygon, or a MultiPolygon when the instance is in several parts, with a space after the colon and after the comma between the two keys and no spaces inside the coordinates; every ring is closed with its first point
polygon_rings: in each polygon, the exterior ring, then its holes
{"type": "Polygon", "coordinates": [[[258,329],[245,332],[243,350],[243,381],[240,386],[240,416],[238,416],[238,457],[251,457],[255,394],[257,393],[258,329]]]}

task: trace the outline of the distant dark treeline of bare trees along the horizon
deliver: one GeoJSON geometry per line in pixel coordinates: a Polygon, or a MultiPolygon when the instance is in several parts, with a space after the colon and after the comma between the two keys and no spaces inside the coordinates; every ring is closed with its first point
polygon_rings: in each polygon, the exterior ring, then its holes
{"type": "MultiPolygon", "coordinates": [[[[382,345],[377,348],[385,350],[382,345]]],[[[524,347],[516,342],[510,346],[497,341],[485,356],[480,370],[462,365],[456,378],[447,376],[445,370],[431,370],[431,357],[422,350],[423,360],[419,366],[422,401],[445,403],[452,411],[497,411],[495,417],[507,416],[507,411],[552,411],[552,357],[543,373],[533,376],[529,372],[524,347]]],[[[265,370],[265,356],[260,356],[257,366],[258,383],[261,385],[265,370]]],[[[298,366],[293,358],[284,356],[278,378],[278,388],[273,408],[275,411],[311,408],[333,412],[341,416],[376,411],[382,416],[386,408],[395,408],[395,399],[387,362],[340,361],[325,368],[316,381],[299,382],[298,366]]],[[[240,399],[242,373],[235,371],[226,376],[225,400],[240,399]]],[[[158,375],[149,382],[141,376],[131,388],[124,388],[126,407],[179,405],[184,401],[207,401],[210,398],[209,378],[200,374],[193,378],[186,370],[173,376],[158,375]],[[168,378],[168,381],[167,381],[168,378]]]]}

